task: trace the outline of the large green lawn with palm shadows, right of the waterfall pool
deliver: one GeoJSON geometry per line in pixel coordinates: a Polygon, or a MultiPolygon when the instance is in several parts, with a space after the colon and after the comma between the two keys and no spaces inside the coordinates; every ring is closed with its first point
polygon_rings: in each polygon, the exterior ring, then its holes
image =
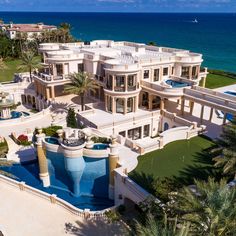
{"type": "MultiPolygon", "coordinates": [[[[129,176],[144,186],[148,179],[173,177],[182,184],[193,178],[207,179],[216,174],[209,149],[214,143],[205,137],[176,141],[138,158],[138,166],[129,176]]],[[[145,187],[145,186],[144,186],[145,187]]]]}

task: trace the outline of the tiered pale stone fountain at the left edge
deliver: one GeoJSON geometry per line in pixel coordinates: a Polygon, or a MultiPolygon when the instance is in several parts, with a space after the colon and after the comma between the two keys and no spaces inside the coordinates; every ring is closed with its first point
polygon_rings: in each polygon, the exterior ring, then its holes
{"type": "Polygon", "coordinates": [[[0,119],[11,119],[11,107],[14,105],[14,101],[7,99],[9,93],[0,92],[0,119]]]}

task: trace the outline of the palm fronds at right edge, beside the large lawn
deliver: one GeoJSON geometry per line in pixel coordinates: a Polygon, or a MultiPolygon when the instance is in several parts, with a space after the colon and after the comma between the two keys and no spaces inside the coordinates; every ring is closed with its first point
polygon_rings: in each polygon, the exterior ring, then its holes
{"type": "Polygon", "coordinates": [[[215,166],[223,167],[224,174],[233,175],[236,179],[236,119],[223,127],[219,146],[220,148],[215,149],[215,166]]]}

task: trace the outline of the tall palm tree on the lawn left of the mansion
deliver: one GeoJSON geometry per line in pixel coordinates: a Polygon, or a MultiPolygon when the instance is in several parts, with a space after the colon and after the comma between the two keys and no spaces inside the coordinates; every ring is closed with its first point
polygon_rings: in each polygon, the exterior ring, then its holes
{"type": "Polygon", "coordinates": [[[26,51],[21,56],[21,64],[18,66],[18,70],[29,71],[30,81],[32,82],[32,71],[41,67],[40,59],[35,57],[32,51],[26,51]]]}

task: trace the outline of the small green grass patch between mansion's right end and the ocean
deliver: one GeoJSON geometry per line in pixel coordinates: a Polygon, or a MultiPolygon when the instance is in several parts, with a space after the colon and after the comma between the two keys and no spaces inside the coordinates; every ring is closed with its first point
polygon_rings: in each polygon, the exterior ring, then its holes
{"type": "Polygon", "coordinates": [[[219,88],[236,84],[236,74],[224,71],[210,70],[206,79],[206,88],[219,88]]]}

